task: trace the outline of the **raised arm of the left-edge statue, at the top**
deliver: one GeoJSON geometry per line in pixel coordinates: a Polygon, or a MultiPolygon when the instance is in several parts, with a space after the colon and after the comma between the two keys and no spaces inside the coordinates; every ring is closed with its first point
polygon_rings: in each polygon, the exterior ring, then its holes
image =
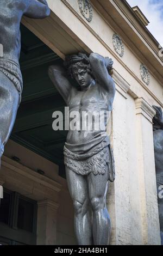
{"type": "Polygon", "coordinates": [[[51,10],[46,0],[29,0],[29,7],[24,13],[25,16],[32,19],[43,19],[50,15],[51,10]]]}

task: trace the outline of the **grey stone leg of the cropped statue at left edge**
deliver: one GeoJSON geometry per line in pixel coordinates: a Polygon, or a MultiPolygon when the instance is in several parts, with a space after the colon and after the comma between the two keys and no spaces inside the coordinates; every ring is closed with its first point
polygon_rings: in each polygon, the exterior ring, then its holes
{"type": "Polygon", "coordinates": [[[14,126],[19,95],[14,84],[0,71],[0,160],[14,126]]]}

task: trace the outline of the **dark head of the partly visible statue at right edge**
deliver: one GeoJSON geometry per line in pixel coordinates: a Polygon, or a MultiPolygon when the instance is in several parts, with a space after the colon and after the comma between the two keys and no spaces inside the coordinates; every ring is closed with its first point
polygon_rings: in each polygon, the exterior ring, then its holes
{"type": "Polygon", "coordinates": [[[162,109],[158,106],[153,106],[156,111],[156,114],[153,118],[153,131],[162,130],[163,129],[163,115],[162,109]]]}

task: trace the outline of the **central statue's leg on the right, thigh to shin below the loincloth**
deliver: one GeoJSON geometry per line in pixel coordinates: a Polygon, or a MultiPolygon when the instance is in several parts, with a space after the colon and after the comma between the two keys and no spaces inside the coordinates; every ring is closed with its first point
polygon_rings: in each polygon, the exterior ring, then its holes
{"type": "Polygon", "coordinates": [[[89,198],[93,211],[93,241],[94,245],[108,245],[111,222],[106,209],[106,192],[108,188],[108,172],[104,175],[87,176],[89,184],[89,198]]]}

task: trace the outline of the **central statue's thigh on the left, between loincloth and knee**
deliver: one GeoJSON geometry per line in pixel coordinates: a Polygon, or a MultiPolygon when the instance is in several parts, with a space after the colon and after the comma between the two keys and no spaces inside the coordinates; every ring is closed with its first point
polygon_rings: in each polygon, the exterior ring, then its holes
{"type": "Polygon", "coordinates": [[[74,173],[66,167],[66,179],[73,201],[84,203],[85,199],[89,198],[85,176],[74,173]]]}

